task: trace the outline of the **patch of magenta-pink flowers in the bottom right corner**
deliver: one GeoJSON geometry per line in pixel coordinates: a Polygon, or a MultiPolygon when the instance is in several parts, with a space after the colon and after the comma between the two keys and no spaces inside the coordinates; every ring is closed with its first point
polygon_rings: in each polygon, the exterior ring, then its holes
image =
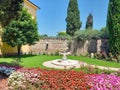
{"type": "Polygon", "coordinates": [[[120,90],[120,77],[115,75],[90,75],[90,90],[120,90]]]}

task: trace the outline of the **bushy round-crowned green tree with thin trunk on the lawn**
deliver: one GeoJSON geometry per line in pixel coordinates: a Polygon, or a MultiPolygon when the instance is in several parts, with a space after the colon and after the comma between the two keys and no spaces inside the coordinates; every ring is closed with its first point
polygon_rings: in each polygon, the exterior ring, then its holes
{"type": "Polygon", "coordinates": [[[2,36],[3,42],[15,47],[17,46],[18,57],[20,57],[22,45],[32,45],[39,39],[36,20],[32,19],[26,9],[18,20],[13,20],[5,28],[2,36]]]}

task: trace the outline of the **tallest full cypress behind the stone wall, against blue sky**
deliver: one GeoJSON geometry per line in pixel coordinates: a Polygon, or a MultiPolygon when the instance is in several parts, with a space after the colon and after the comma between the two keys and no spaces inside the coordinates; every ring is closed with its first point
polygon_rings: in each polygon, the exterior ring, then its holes
{"type": "Polygon", "coordinates": [[[80,12],[78,9],[77,0],[70,0],[68,9],[67,9],[67,17],[66,17],[66,32],[67,34],[74,36],[74,33],[80,29],[80,12]]]}

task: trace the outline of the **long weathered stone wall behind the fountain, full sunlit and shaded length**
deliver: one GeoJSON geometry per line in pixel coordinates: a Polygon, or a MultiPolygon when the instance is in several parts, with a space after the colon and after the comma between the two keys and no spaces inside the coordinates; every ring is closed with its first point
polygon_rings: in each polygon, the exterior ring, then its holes
{"type": "Polygon", "coordinates": [[[69,51],[76,55],[85,55],[86,53],[99,53],[100,51],[109,51],[108,40],[87,40],[86,42],[77,42],[66,39],[42,39],[35,45],[30,46],[32,54],[54,54],[56,52],[69,51]]]}

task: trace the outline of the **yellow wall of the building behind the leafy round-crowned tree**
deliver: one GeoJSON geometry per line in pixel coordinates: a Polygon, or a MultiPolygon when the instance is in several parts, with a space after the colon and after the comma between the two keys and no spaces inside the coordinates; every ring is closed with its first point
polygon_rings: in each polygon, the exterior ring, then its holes
{"type": "MultiPolygon", "coordinates": [[[[36,11],[38,9],[38,7],[36,7],[35,5],[33,5],[31,2],[29,2],[28,0],[24,0],[24,8],[28,9],[28,12],[33,16],[33,18],[36,18],[36,11]]],[[[0,27],[1,29],[1,27],[0,27]]],[[[21,49],[22,53],[29,53],[30,49],[29,49],[29,45],[23,45],[22,49],[21,49]]],[[[16,47],[11,47],[6,43],[3,43],[0,37],[0,55],[2,54],[12,54],[12,53],[17,53],[17,48],[16,47]]]]}

